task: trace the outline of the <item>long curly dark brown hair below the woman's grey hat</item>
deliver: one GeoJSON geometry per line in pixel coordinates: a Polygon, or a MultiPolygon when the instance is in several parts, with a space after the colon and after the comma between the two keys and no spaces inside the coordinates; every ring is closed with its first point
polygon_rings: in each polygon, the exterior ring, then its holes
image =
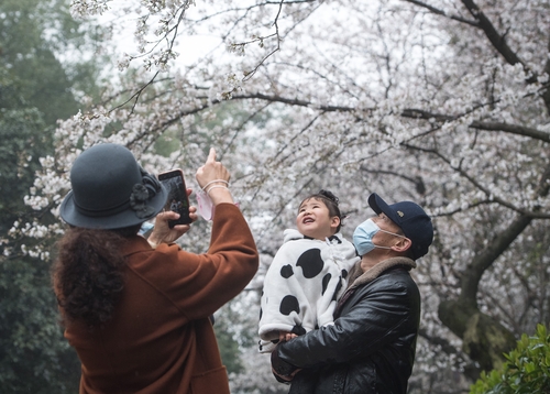
{"type": "Polygon", "coordinates": [[[99,327],[111,314],[124,288],[120,252],[140,226],[117,230],[72,227],[59,240],[52,270],[62,324],[81,320],[89,329],[99,327]]]}

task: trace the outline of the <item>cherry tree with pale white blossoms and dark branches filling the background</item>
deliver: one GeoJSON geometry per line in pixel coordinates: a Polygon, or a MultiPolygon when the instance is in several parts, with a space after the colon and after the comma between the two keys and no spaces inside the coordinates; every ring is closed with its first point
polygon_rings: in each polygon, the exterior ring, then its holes
{"type": "MultiPolygon", "coordinates": [[[[57,212],[72,162],[95,143],[125,144],[153,172],[182,166],[191,185],[191,168],[216,146],[264,265],[300,197],[320,188],[349,212],[346,236],[373,215],[372,191],[431,214],[435,243],[414,272],[424,308],[411,391],[455,390],[442,371],[466,385],[521,332],[549,322],[546,0],[114,7],[73,3],[80,18],[116,15],[113,34],[133,32],[135,45],[120,54],[125,73],[102,105],[59,123],[56,153],[26,199],[37,218],[57,212]],[[180,41],[206,35],[217,44],[190,59],[180,41]]],[[[186,248],[205,250],[207,227],[196,223],[186,248]]],[[[12,229],[61,231],[40,220],[12,229]]],[[[40,242],[28,252],[47,258],[40,242]]]]}

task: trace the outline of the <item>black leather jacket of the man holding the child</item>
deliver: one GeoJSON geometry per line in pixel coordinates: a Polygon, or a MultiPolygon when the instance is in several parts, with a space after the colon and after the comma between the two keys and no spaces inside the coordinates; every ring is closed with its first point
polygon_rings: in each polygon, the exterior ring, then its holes
{"type": "Polygon", "coordinates": [[[333,326],[277,346],[275,371],[304,369],[290,393],[407,392],[420,320],[420,294],[408,272],[415,266],[406,258],[378,263],[344,293],[333,326]]]}

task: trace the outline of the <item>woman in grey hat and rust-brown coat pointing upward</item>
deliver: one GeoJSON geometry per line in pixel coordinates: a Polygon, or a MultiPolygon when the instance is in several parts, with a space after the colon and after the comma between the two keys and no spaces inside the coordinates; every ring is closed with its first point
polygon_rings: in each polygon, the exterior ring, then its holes
{"type": "Polygon", "coordinates": [[[210,248],[194,254],[173,243],[189,226],[169,228],[178,215],[157,215],[166,190],[130,151],[100,144],[77,157],[53,278],[82,364],[80,393],[229,394],[209,316],[244,288],[258,261],[229,176],[211,150],[196,175],[216,208],[210,248]],[[145,240],[138,231],[155,216],[145,240]]]}

